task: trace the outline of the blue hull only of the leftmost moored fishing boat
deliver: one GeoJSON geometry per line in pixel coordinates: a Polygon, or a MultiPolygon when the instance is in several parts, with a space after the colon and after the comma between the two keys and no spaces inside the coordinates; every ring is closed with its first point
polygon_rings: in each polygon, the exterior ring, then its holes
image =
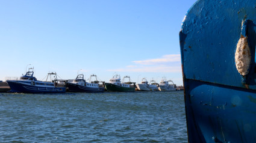
{"type": "Polygon", "coordinates": [[[26,85],[16,81],[7,81],[11,93],[65,93],[65,87],[42,87],[37,85],[26,85]]]}

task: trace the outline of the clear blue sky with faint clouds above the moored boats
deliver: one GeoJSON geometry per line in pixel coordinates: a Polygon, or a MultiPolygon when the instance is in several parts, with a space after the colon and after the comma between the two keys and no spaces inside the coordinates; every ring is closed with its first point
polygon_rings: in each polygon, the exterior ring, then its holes
{"type": "Polygon", "coordinates": [[[183,85],[179,32],[196,0],[0,1],[0,80],[32,66],[62,79],[114,74],[183,85]],[[82,69],[82,70],[80,70],[82,69]]]}

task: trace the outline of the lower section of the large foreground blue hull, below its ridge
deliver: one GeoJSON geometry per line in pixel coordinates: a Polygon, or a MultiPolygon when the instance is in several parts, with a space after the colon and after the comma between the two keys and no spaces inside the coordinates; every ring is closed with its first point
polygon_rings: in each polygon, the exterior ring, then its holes
{"type": "Polygon", "coordinates": [[[254,90],[188,80],[189,142],[256,142],[254,90]]]}

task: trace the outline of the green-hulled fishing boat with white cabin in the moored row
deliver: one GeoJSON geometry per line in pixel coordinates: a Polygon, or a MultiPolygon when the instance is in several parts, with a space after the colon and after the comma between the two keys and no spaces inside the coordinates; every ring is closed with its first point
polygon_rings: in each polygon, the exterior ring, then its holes
{"type": "Polygon", "coordinates": [[[114,75],[110,79],[110,83],[105,83],[105,88],[107,91],[118,91],[118,92],[134,92],[135,86],[130,81],[130,76],[123,77],[122,83],[120,82],[120,75],[114,75]],[[129,82],[125,82],[125,79],[129,79],[129,82]]]}

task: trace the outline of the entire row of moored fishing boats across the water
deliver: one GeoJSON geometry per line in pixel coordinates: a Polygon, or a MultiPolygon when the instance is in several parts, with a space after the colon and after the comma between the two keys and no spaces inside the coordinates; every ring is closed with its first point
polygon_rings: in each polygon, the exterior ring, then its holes
{"type": "Polygon", "coordinates": [[[120,75],[114,75],[109,83],[102,82],[102,84],[99,84],[96,75],[91,75],[89,82],[86,82],[83,74],[70,80],[57,79],[57,77],[57,73],[49,72],[46,81],[38,81],[34,77],[33,67],[28,68],[25,75],[20,76],[20,78],[7,77],[5,79],[11,89],[8,92],[11,93],[65,93],[66,91],[80,93],[100,93],[104,91],[134,92],[136,89],[139,91],[175,91],[173,90],[175,85],[170,86],[168,81],[162,80],[160,84],[157,84],[152,80],[148,83],[146,78],[143,78],[141,84],[136,84],[136,82],[131,82],[130,76],[123,77],[121,82],[120,75]]]}

